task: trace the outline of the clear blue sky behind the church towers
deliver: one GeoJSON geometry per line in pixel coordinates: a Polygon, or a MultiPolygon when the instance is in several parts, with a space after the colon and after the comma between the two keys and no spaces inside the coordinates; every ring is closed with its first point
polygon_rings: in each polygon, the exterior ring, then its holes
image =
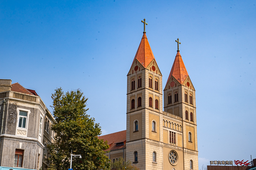
{"type": "Polygon", "coordinates": [[[103,135],[126,129],[127,73],[143,35],[166,84],[180,54],[196,88],[199,166],[256,158],[256,0],[0,1],[2,79],[80,88],[103,135]]]}

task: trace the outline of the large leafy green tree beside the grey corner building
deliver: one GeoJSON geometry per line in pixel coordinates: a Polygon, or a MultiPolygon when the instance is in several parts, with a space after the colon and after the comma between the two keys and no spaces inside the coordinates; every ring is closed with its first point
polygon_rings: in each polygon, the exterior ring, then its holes
{"type": "Polygon", "coordinates": [[[66,170],[70,167],[70,154],[81,155],[82,159],[73,158],[72,168],[96,170],[108,168],[109,159],[103,150],[108,149],[107,142],[99,139],[100,125],[86,114],[88,108],[80,89],[64,93],[57,88],[52,94],[53,115],[56,123],[52,124],[55,132],[54,143],[47,145],[50,156],[47,158],[49,170],[66,170]]]}

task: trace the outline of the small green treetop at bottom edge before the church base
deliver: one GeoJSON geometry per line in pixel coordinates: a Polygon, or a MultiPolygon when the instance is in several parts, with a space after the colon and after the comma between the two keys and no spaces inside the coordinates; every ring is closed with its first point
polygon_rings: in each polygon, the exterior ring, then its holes
{"type": "MultiPolygon", "coordinates": [[[[125,162],[123,158],[120,158],[118,161],[115,161],[115,162],[111,161],[111,166],[108,169],[111,169],[111,168],[115,170],[139,170],[139,168],[132,165],[132,162],[130,160],[127,160],[125,162]]],[[[105,168],[104,170],[107,170],[107,168],[105,168]]]]}

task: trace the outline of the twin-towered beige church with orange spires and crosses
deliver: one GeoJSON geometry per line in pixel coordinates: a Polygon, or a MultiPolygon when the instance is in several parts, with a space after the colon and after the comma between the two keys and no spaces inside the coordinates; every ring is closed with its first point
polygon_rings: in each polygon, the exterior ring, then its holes
{"type": "Polygon", "coordinates": [[[179,39],[163,89],[162,73],[146,36],[148,24],[145,19],[143,23],[127,75],[126,136],[124,131],[101,136],[110,145],[106,155],[112,161],[130,160],[143,170],[198,170],[195,88],[180,55],[179,39]]]}

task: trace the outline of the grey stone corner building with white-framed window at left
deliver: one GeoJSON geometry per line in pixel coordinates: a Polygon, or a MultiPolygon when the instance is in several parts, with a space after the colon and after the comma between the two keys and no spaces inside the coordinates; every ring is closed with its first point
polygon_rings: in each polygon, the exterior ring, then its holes
{"type": "Polygon", "coordinates": [[[54,118],[35,90],[0,79],[0,168],[44,169],[54,118]]]}

